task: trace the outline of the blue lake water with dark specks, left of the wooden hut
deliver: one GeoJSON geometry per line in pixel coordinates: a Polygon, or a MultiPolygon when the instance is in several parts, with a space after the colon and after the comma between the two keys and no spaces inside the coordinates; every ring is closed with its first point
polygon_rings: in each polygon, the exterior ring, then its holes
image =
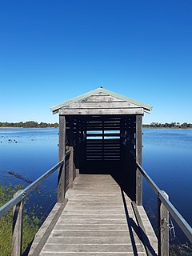
{"type": "MultiPolygon", "coordinates": [[[[34,180],[58,161],[58,129],[1,129],[0,180],[14,182],[8,171],[34,180]],[[17,143],[16,143],[17,142],[17,143]]],[[[26,184],[24,184],[26,186],[26,184]]]]}

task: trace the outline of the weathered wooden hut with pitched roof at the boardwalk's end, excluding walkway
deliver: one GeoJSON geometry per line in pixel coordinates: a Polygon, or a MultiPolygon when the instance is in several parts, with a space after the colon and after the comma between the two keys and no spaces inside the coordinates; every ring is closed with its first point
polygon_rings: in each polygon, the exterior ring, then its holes
{"type": "MultiPolygon", "coordinates": [[[[65,190],[77,174],[110,174],[142,205],[142,175],[135,162],[142,166],[142,116],[151,109],[102,87],[52,107],[59,114],[59,160],[67,149],[73,152],[75,173],[66,174],[65,190]]],[[[59,193],[58,202],[63,197],[59,193]]]]}

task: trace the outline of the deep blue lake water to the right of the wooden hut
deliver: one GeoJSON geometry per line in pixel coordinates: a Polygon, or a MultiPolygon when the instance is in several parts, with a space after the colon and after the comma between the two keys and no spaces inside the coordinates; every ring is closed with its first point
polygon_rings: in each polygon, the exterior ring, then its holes
{"type": "MultiPolygon", "coordinates": [[[[192,130],[144,129],[143,166],[192,226],[192,130]]],[[[144,206],[157,227],[157,198],[143,182],[144,206]]],[[[182,242],[186,238],[176,227],[182,242]]]]}

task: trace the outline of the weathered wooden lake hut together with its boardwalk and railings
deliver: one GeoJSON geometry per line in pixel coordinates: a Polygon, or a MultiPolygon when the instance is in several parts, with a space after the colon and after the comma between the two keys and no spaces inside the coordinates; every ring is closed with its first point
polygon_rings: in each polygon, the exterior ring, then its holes
{"type": "Polygon", "coordinates": [[[58,170],[58,202],[34,237],[30,256],[169,255],[169,213],[192,229],[142,168],[142,117],[152,106],[102,87],[53,106],[58,164],[0,207],[14,207],[12,256],[22,255],[22,208],[58,170]],[[158,234],[142,206],[142,178],[158,198],[158,234]]]}

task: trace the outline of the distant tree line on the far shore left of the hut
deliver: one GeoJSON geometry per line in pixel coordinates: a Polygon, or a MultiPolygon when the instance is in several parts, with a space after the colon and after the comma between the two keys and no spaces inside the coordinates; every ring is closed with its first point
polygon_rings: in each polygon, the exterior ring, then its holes
{"type": "Polygon", "coordinates": [[[54,123],[47,123],[47,122],[34,122],[34,121],[27,121],[27,122],[0,122],[0,127],[17,127],[17,128],[57,128],[58,122],[54,123]]]}

